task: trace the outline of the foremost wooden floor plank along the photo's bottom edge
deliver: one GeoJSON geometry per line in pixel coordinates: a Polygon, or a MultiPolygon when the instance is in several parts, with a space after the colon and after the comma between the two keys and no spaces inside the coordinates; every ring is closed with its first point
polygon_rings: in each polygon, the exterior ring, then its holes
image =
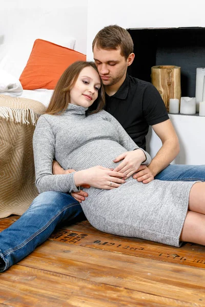
{"type": "MultiPolygon", "coordinates": [[[[45,270],[13,266],[1,278],[0,302],[8,306],[196,306],[126,288],[45,270]],[[9,295],[8,295],[9,294],[9,295]],[[42,303],[43,302],[43,303],[42,303]]],[[[200,306],[200,304],[198,304],[200,306]]]]}

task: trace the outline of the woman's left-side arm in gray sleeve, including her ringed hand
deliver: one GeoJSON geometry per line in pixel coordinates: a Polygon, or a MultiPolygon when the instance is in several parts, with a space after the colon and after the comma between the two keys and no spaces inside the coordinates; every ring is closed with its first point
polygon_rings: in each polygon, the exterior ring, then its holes
{"type": "Polygon", "coordinates": [[[33,135],[33,152],[36,173],[36,187],[39,193],[45,191],[78,192],[79,186],[89,184],[99,189],[119,187],[125,181],[124,174],[109,168],[95,166],[74,171],[68,174],[52,174],[52,163],[55,155],[55,136],[48,120],[41,116],[38,119],[33,135]],[[114,186],[110,186],[110,182],[114,186]]]}

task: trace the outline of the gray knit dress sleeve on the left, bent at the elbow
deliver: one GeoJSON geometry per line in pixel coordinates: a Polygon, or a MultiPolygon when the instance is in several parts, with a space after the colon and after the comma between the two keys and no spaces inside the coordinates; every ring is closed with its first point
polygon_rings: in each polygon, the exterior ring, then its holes
{"type": "Polygon", "coordinates": [[[78,192],[74,182],[74,172],[53,175],[52,163],[55,156],[55,136],[52,127],[44,116],[40,116],[33,135],[35,164],[35,185],[39,193],[46,191],[78,192]]]}

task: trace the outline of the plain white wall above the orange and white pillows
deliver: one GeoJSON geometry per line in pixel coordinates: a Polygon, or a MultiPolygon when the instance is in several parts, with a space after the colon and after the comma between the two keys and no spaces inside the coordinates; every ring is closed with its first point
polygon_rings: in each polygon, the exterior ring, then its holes
{"type": "Polygon", "coordinates": [[[75,50],[86,54],[87,0],[1,1],[0,43],[66,42],[68,37],[76,39],[75,50]]]}

